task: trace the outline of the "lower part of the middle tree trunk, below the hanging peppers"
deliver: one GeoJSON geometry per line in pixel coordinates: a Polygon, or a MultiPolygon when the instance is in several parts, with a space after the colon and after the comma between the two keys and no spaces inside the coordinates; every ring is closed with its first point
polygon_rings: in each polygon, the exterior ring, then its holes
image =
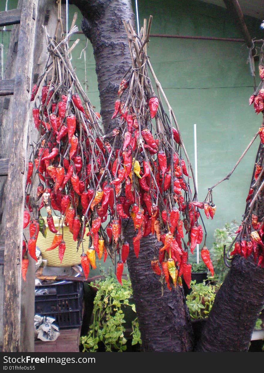
{"type": "Polygon", "coordinates": [[[169,291],[151,269],[156,239],[149,235],[140,240],[139,257],[133,252],[133,223],[126,227],[131,250],[127,259],[136,314],[142,336],[142,351],[189,352],[193,349],[193,332],[182,287],[169,291]]]}

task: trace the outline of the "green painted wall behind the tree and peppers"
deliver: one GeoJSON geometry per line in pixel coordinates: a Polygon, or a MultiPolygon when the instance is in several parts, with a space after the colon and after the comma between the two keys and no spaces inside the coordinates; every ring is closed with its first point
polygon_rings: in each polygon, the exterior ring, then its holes
{"type": "MultiPolygon", "coordinates": [[[[16,1],[9,1],[9,9],[16,1]]],[[[13,6],[15,7],[15,6],[13,6]]],[[[4,10],[4,4],[0,4],[4,10]]],[[[139,21],[153,15],[151,33],[201,35],[207,37],[241,38],[226,9],[202,1],[140,1],[139,21]]],[[[69,7],[69,23],[78,9],[69,7]]],[[[82,16],[78,12],[77,25],[81,30],[82,16]]],[[[245,16],[252,38],[264,37],[262,20],[245,16]]],[[[2,32],[0,41],[7,46],[8,33],[2,32]]],[[[84,55],[86,38],[80,39],[72,53],[81,82],[85,80],[84,55]]],[[[183,38],[151,37],[148,48],[151,63],[175,112],[185,146],[194,165],[194,123],[197,124],[198,194],[203,200],[207,188],[227,175],[261,125],[261,115],[249,107],[248,98],[254,91],[254,80],[247,64],[248,49],[242,42],[191,40],[183,38]]],[[[256,63],[256,72],[258,66],[256,63]]],[[[86,49],[88,97],[100,111],[91,44],[86,49]]],[[[260,81],[256,78],[257,84],[260,81]]],[[[207,244],[213,243],[213,232],[235,219],[241,222],[245,198],[255,161],[258,139],[248,151],[229,181],[214,189],[217,206],[213,220],[206,220],[207,244]]],[[[195,260],[195,255],[191,260],[195,260]]]]}

